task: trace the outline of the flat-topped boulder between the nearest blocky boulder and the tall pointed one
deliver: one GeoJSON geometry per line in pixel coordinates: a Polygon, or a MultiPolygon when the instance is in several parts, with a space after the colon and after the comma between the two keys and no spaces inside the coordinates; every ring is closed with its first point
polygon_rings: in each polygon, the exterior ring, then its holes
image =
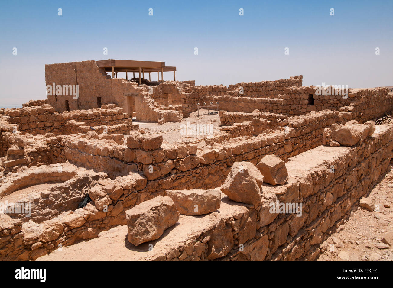
{"type": "Polygon", "coordinates": [[[167,196],[183,215],[208,214],[219,209],[221,204],[219,190],[168,190],[167,196]]]}

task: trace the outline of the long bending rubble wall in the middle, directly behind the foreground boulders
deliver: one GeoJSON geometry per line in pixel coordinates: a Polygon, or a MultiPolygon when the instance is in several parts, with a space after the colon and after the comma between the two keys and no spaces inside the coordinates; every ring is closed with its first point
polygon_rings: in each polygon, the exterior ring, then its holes
{"type": "MultiPolygon", "coordinates": [[[[96,172],[113,171],[114,175],[121,175],[139,171],[147,180],[163,180],[166,189],[213,189],[224,182],[229,168],[236,161],[256,164],[267,154],[287,160],[322,145],[324,128],[341,122],[342,117],[338,111],[314,112],[292,119],[287,129],[254,138],[229,138],[228,144],[216,143],[204,150],[197,149],[196,145],[162,145],[154,150],[130,149],[126,145],[108,145],[84,138],[65,141],[64,151],[66,160],[96,172]],[[185,173],[192,175],[190,182],[178,182],[176,179],[185,173]]],[[[245,123],[238,131],[250,134],[250,125],[245,123]]]]}

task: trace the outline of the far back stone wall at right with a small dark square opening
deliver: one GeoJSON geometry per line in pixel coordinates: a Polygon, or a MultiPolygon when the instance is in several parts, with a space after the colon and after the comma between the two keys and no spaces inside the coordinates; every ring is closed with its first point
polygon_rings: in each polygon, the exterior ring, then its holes
{"type": "Polygon", "coordinates": [[[276,114],[304,115],[310,111],[321,111],[325,109],[343,110],[357,112],[353,117],[361,122],[380,117],[385,113],[390,113],[393,108],[393,97],[387,94],[386,88],[376,90],[360,90],[349,93],[347,99],[342,99],[342,95],[317,96],[315,88],[312,87],[287,87],[286,94],[281,98],[250,98],[225,96],[205,96],[202,101],[219,101],[220,110],[228,112],[252,113],[255,109],[261,112],[276,114]],[[309,97],[313,101],[309,103],[309,97]],[[325,99],[326,98],[326,99],[325,99]],[[364,105],[370,106],[365,109],[364,105]],[[353,106],[354,108],[351,108],[353,106]],[[344,108],[346,107],[346,108],[344,108]]]}

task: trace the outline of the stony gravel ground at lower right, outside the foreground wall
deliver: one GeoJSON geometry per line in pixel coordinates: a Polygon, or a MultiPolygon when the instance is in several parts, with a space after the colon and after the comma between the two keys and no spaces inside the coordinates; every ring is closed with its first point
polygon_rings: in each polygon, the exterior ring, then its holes
{"type": "Polygon", "coordinates": [[[391,243],[386,244],[393,234],[392,188],[390,170],[367,196],[378,205],[377,209],[355,207],[343,225],[322,243],[318,261],[392,261],[391,243]]]}

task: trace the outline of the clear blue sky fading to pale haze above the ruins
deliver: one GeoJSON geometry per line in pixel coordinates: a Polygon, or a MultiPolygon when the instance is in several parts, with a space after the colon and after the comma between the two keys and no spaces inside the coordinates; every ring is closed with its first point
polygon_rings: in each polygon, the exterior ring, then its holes
{"type": "Polygon", "coordinates": [[[165,61],[197,85],[303,74],[303,85],[389,86],[392,15],[391,0],[3,1],[0,107],[45,99],[45,64],[108,58],[165,61]]]}

